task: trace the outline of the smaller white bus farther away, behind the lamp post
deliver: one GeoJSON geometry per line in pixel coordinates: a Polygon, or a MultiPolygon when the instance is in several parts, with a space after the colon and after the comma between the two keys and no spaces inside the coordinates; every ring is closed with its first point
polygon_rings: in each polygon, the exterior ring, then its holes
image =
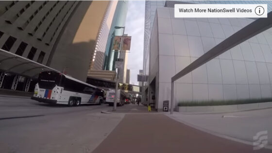
{"type": "MultiPolygon", "coordinates": [[[[115,89],[108,90],[106,94],[105,103],[109,104],[109,106],[113,106],[114,97],[115,97],[115,89]]],[[[117,90],[117,106],[124,105],[125,98],[126,98],[125,94],[120,89],[118,89],[117,90]]]]}

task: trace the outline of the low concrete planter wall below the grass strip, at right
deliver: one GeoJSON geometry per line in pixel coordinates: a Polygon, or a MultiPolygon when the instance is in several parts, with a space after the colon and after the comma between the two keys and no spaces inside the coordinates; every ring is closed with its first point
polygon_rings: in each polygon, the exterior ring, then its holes
{"type": "Polygon", "coordinates": [[[177,106],[178,112],[230,112],[230,111],[247,111],[256,109],[272,108],[272,102],[222,105],[222,106],[177,106]]]}

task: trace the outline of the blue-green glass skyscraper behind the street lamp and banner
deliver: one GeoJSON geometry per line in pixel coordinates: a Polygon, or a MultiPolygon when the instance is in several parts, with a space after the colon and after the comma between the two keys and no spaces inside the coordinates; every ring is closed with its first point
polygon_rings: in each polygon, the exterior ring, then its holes
{"type": "Polygon", "coordinates": [[[103,70],[115,70],[115,60],[119,57],[119,52],[114,52],[112,50],[112,42],[114,36],[121,36],[123,34],[123,28],[116,29],[115,27],[124,27],[127,10],[128,10],[128,2],[119,0],[116,6],[116,10],[114,13],[113,21],[111,24],[111,28],[109,31],[109,36],[106,44],[105,55],[104,55],[104,63],[103,70]]]}

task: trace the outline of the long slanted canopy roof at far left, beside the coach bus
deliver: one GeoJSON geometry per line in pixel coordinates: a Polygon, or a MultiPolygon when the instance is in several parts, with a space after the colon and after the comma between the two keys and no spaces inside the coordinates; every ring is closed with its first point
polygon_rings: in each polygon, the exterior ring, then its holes
{"type": "Polygon", "coordinates": [[[0,49],[0,70],[29,78],[37,78],[41,71],[60,72],[2,49],[0,49]]]}

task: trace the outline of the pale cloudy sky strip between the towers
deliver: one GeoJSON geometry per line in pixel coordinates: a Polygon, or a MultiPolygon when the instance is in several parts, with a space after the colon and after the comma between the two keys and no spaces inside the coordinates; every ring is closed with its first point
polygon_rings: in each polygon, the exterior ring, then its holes
{"type": "Polygon", "coordinates": [[[137,74],[143,69],[145,1],[129,1],[125,33],[131,38],[127,69],[130,70],[130,83],[138,85],[137,74]]]}

